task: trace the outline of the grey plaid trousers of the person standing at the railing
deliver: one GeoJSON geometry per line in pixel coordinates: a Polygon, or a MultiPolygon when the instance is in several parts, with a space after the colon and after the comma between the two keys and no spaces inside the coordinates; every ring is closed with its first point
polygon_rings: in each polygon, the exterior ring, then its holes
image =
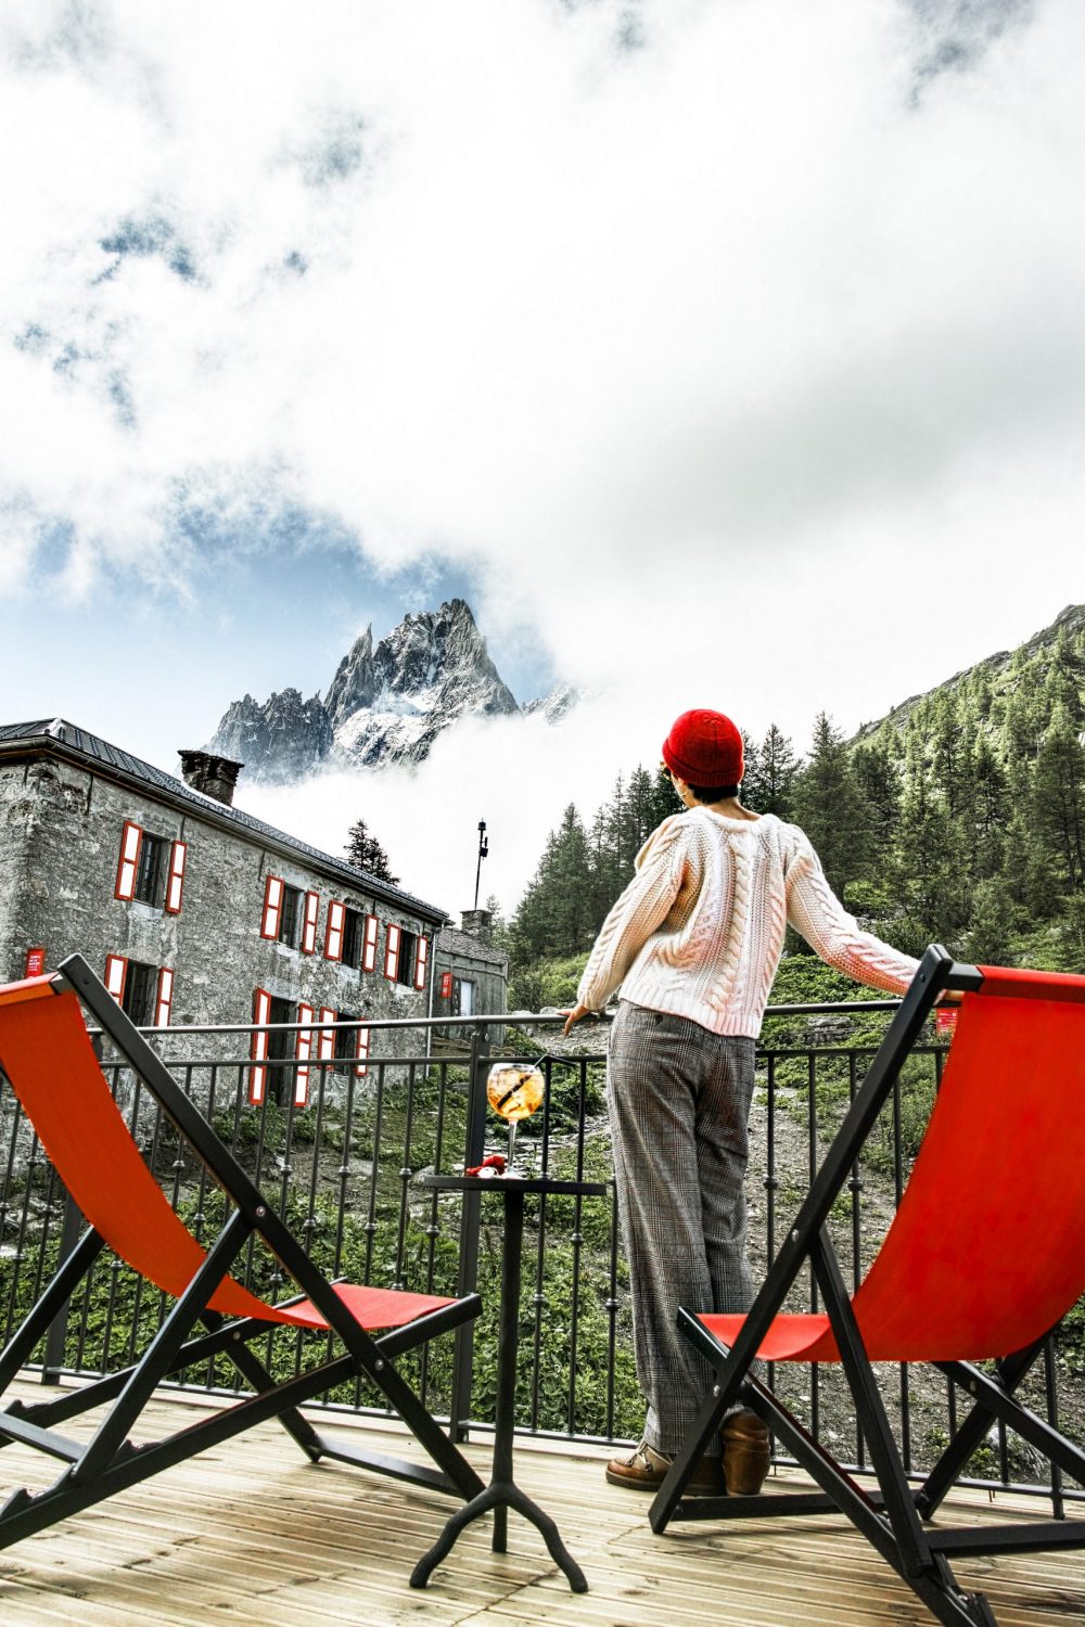
{"type": "Polygon", "coordinates": [[[712,1370],[675,1323],[678,1306],[745,1311],[747,1119],[755,1041],[621,1001],[607,1097],[618,1217],[630,1261],[644,1438],[677,1451],[712,1370]]]}

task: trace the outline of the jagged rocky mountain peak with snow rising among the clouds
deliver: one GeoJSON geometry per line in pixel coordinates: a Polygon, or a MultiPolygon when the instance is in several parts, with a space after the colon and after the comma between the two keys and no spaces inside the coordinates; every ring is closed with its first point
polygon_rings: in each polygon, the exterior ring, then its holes
{"type": "Polygon", "coordinates": [[[288,784],[332,763],[421,763],[459,718],[542,713],[556,722],[573,704],[576,691],[560,685],[521,708],[490,659],[470,605],[451,599],[438,610],[403,617],[376,646],[368,626],[324,698],[306,701],[286,688],[262,703],[252,695],[233,701],[208,750],[242,761],[251,783],[288,784]]]}

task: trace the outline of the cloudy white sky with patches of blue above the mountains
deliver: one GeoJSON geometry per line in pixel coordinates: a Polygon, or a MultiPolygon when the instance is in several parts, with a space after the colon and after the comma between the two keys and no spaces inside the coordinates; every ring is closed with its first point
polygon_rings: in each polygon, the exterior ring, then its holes
{"type": "Polygon", "coordinates": [[[1078,0],[0,7],[0,678],[164,768],[452,592],[558,734],[247,805],[516,903],[719,706],[1085,599],[1078,0]]]}

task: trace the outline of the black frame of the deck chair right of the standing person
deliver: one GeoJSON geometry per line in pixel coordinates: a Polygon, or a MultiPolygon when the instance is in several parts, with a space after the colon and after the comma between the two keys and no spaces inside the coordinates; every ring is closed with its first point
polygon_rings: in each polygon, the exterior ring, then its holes
{"type": "Polygon", "coordinates": [[[916,1591],[932,1616],[948,1627],[996,1627],[996,1617],[984,1594],[960,1588],[952,1572],[952,1557],[1085,1547],[1085,1520],[927,1529],[924,1521],[937,1511],[971,1453],[983,1443],[987,1429],[999,1422],[1015,1430],[1062,1472],[1082,1484],[1085,1484],[1085,1453],[1017,1399],[1017,1388],[1044,1350],[1049,1337],[1044,1334],[1028,1349],[997,1362],[994,1375],[971,1362],[932,1363],[961,1389],[970,1409],[958,1420],[952,1440],[922,1484],[911,1484],[856,1323],[851,1293],[828,1232],[828,1215],[935,1002],[945,994],[976,991],[981,984],[979,968],[953,962],[939,944],[927,949],[735,1342],[726,1346],[695,1315],[680,1310],[678,1326],[716,1370],[716,1383],[701,1404],[682,1450],[675,1455],[649,1513],[652,1529],[657,1533],[665,1531],[672,1520],[844,1513],[916,1591]],[[761,1341],[807,1261],[836,1337],[856,1420],[877,1479],[875,1492],[861,1485],[808,1435],[776,1394],[750,1373],[761,1341]],[[758,1414],[800,1468],[821,1487],[820,1492],[756,1497],[685,1495],[703,1453],[735,1404],[758,1414]]]}

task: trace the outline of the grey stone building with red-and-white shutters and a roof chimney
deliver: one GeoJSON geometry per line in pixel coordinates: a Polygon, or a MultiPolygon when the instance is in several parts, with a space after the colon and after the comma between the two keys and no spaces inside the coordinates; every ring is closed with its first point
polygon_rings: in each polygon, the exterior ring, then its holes
{"type": "Polygon", "coordinates": [[[177,779],[63,719],[0,727],[0,979],[78,950],[140,1027],[358,1023],[254,1036],[254,1101],[304,1101],[309,1059],[425,1054],[366,1020],[429,1015],[446,911],[234,809],[242,765],[181,758],[177,779]]]}

